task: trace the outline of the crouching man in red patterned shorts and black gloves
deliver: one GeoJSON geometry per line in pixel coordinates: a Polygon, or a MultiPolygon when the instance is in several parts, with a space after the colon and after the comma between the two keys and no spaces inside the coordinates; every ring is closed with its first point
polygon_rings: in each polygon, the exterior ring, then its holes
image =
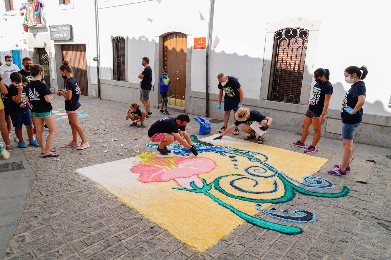
{"type": "Polygon", "coordinates": [[[198,155],[197,149],[186,131],[186,125],[190,122],[187,114],[178,115],[178,117],[165,117],[157,120],[149,127],[148,137],[152,142],[160,142],[158,152],[162,155],[168,155],[171,152],[166,146],[177,140],[178,143],[190,149],[194,155],[198,155]],[[185,137],[185,140],[182,139],[185,137]]]}

